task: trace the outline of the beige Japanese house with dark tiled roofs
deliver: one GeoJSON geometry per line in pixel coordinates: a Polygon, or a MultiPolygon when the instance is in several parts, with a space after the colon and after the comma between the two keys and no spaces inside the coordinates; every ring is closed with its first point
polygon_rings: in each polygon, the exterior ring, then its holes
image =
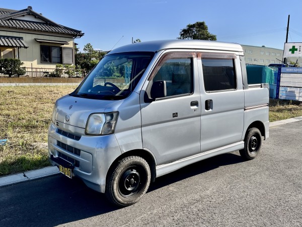
{"type": "Polygon", "coordinates": [[[74,65],[74,38],[83,35],[30,6],[19,11],[0,8],[0,58],[20,59],[29,76],[51,71],[56,64],[74,65]]]}

